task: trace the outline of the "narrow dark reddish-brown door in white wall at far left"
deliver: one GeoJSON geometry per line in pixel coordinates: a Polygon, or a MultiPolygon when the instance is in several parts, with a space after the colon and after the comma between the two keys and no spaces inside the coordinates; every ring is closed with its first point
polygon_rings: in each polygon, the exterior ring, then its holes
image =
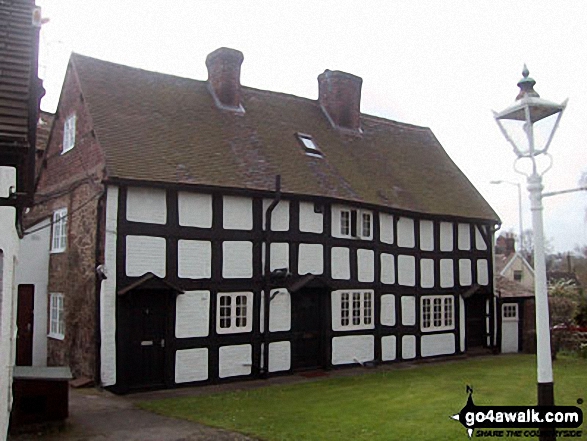
{"type": "Polygon", "coordinates": [[[16,365],[33,364],[33,324],[35,285],[18,285],[18,310],[16,325],[16,365]]]}

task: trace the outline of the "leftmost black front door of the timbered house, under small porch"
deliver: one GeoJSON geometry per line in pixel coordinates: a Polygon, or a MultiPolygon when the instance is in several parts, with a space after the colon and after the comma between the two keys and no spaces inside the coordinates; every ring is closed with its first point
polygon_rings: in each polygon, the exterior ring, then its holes
{"type": "Polygon", "coordinates": [[[160,290],[133,291],[130,308],[131,387],[165,384],[165,344],[169,294],[160,290]]]}

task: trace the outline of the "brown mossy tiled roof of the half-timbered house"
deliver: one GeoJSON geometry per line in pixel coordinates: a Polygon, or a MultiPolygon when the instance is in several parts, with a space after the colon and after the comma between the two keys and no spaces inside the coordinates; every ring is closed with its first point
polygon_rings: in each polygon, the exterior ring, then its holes
{"type": "Polygon", "coordinates": [[[109,177],[327,196],[497,221],[430,129],[361,115],[333,128],[315,100],[243,87],[244,114],[216,107],[207,83],[73,54],[109,177]],[[304,153],[296,133],[324,156],[304,153]]]}

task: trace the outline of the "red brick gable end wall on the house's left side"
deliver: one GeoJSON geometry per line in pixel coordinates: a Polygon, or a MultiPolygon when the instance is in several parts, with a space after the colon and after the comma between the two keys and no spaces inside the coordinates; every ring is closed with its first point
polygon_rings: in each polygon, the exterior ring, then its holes
{"type": "Polygon", "coordinates": [[[48,286],[49,294],[64,295],[65,338],[48,338],[47,362],[53,366],[69,365],[75,377],[92,378],[96,349],[97,207],[103,190],[104,159],[72,73],[70,66],[41,166],[35,206],[25,222],[30,225],[52,216],[59,208],[67,208],[67,248],[50,255],[48,286]],[[75,147],[62,154],[64,122],[73,112],[75,147]]]}

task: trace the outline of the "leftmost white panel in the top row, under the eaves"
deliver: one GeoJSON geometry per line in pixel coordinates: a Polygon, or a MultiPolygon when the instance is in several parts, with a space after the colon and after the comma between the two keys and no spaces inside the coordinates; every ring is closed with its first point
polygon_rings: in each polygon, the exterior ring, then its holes
{"type": "Polygon", "coordinates": [[[129,187],[126,218],[133,222],[162,224],[167,222],[167,193],[160,188],[129,187]]]}

